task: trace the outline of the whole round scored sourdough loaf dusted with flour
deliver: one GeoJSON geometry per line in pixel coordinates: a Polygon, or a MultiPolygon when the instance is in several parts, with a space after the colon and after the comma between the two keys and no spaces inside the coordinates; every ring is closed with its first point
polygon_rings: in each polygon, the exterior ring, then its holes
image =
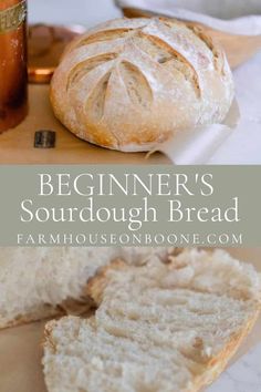
{"type": "Polygon", "coordinates": [[[51,84],[54,113],[70,131],[124,152],[220,123],[232,99],[223,51],[203,30],[163,18],[90,30],[70,44],[51,84]]]}

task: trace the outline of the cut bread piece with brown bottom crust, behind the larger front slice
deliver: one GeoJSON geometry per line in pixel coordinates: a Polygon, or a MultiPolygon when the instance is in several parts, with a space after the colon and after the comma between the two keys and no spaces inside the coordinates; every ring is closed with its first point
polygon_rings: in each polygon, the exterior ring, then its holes
{"type": "Polygon", "coordinates": [[[56,314],[85,312],[83,288],[100,267],[117,257],[143,264],[167,248],[0,248],[0,328],[56,314]]]}

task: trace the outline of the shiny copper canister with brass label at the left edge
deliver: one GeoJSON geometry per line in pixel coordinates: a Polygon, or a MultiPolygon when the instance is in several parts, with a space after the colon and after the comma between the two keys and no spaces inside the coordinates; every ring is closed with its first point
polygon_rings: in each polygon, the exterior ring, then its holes
{"type": "Polygon", "coordinates": [[[27,1],[0,1],[0,133],[28,113],[27,1]]]}

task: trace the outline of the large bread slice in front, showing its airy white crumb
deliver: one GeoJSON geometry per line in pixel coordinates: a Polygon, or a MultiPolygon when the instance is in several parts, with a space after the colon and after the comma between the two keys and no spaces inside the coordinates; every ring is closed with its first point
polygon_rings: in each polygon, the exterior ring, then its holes
{"type": "Polygon", "coordinates": [[[186,250],[105,268],[98,308],[45,328],[49,392],[195,392],[213,381],[260,311],[260,278],[227,252],[186,250]]]}

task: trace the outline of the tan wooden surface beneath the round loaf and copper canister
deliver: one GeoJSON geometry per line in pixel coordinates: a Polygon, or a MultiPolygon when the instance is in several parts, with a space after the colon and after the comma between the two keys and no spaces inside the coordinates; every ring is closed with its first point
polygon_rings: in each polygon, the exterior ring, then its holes
{"type": "Polygon", "coordinates": [[[163,154],[119,153],[94,146],[70,133],[53,115],[49,85],[29,86],[29,115],[15,128],[0,135],[0,164],[168,164],[163,154]],[[34,148],[38,130],[56,132],[55,148],[34,148]]]}

